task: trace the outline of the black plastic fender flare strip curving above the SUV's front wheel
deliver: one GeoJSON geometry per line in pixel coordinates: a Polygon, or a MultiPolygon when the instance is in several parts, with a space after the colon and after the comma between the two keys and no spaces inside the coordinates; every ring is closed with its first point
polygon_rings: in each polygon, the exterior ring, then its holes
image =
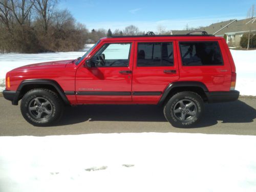
{"type": "Polygon", "coordinates": [[[16,96],[13,100],[14,103],[18,103],[18,100],[20,99],[20,92],[22,91],[24,86],[28,86],[30,84],[42,84],[42,85],[47,84],[47,85],[53,86],[57,90],[57,92],[60,95],[63,102],[65,104],[70,105],[70,102],[69,102],[65,92],[62,90],[60,85],[55,80],[52,80],[52,79],[28,79],[28,80],[22,81],[18,86],[18,89],[17,89],[17,92],[16,92],[17,94],[16,94],[16,96]]]}

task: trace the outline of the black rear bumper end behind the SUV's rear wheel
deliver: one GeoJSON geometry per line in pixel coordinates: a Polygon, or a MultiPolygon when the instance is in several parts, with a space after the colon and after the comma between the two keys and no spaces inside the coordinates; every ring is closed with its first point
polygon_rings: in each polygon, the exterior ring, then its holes
{"type": "Polygon", "coordinates": [[[236,101],[239,97],[239,91],[216,91],[216,92],[208,92],[206,96],[208,98],[209,103],[216,102],[228,102],[228,101],[236,101]]]}

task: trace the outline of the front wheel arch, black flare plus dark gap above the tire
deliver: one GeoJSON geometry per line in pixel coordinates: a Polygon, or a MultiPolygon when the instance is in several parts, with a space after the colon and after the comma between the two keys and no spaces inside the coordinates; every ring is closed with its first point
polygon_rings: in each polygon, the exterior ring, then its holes
{"type": "Polygon", "coordinates": [[[18,89],[17,89],[18,94],[15,98],[14,103],[18,104],[18,101],[22,99],[22,97],[25,95],[27,91],[31,89],[36,89],[36,88],[45,88],[45,89],[54,91],[60,96],[60,98],[65,104],[70,104],[63,89],[55,80],[52,80],[52,79],[28,79],[28,80],[22,81],[18,86],[18,89]]]}

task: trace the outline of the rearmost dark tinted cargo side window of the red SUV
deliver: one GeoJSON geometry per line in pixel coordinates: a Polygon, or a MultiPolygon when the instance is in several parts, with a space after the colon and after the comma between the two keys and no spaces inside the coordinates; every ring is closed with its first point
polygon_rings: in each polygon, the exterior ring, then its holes
{"type": "Polygon", "coordinates": [[[218,42],[180,42],[183,66],[221,66],[218,42]]]}

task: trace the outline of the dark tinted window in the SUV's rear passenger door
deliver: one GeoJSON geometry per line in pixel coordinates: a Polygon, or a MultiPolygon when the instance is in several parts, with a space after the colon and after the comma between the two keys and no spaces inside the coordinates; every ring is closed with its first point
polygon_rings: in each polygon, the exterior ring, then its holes
{"type": "Polygon", "coordinates": [[[172,42],[138,44],[138,67],[173,66],[172,42]]]}

